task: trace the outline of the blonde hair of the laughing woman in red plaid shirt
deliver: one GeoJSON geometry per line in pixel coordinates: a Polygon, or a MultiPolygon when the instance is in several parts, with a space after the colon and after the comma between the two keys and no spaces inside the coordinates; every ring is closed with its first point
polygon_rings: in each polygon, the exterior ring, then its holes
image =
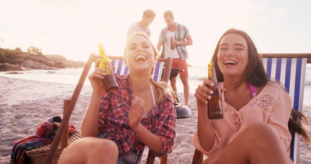
{"type": "Polygon", "coordinates": [[[125,48],[124,48],[124,53],[123,53],[123,59],[124,62],[126,62],[126,48],[128,47],[128,41],[133,38],[136,35],[140,35],[145,37],[149,43],[151,44],[152,50],[153,50],[153,56],[154,56],[154,63],[153,66],[151,68],[151,74],[150,74],[150,84],[154,85],[156,87],[156,93],[155,93],[155,97],[156,97],[156,103],[159,103],[162,101],[162,98],[165,96],[165,94],[168,93],[167,88],[169,88],[169,90],[171,91],[172,94],[174,94],[173,89],[171,88],[171,86],[169,84],[167,84],[164,81],[161,81],[160,83],[156,83],[155,81],[152,80],[151,75],[154,73],[155,67],[156,67],[156,59],[158,57],[158,50],[156,49],[156,47],[152,44],[151,40],[144,34],[141,33],[134,33],[132,34],[132,36],[130,36],[125,44],[125,48]]]}

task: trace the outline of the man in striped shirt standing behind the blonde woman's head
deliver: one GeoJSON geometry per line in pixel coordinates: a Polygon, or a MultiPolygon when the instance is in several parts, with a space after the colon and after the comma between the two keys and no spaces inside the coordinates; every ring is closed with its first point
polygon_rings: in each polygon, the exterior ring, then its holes
{"type": "Polygon", "coordinates": [[[149,25],[155,19],[156,13],[150,9],[145,10],[144,14],[142,15],[142,20],[139,22],[135,22],[128,28],[128,35],[127,38],[132,36],[134,33],[142,33],[145,34],[150,38],[151,32],[149,29],[149,25]]]}

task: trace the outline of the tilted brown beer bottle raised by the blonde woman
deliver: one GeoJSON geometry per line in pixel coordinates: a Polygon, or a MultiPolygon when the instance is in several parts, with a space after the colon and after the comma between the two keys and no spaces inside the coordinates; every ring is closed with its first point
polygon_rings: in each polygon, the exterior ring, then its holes
{"type": "Polygon", "coordinates": [[[118,83],[116,81],[116,77],[114,75],[114,69],[112,67],[112,62],[109,60],[106,52],[104,50],[103,44],[98,44],[98,50],[100,55],[99,67],[104,68],[106,71],[106,76],[104,76],[103,84],[106,92],[112,92],[118,89],[118,83]]]}

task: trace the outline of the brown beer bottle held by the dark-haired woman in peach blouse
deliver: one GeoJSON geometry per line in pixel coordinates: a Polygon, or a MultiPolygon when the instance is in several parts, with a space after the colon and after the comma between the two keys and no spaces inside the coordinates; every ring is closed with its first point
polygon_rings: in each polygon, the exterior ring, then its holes
{"type": "Polygon", "coordinates": [[[208,79],[214,83],[213,87],[209,87],[214,91],[211,99],[207,100],[207,115],[209,119],[223,118],[221,105],[220,85],[217,83],[214,63],[208,64],[208,79]]]}

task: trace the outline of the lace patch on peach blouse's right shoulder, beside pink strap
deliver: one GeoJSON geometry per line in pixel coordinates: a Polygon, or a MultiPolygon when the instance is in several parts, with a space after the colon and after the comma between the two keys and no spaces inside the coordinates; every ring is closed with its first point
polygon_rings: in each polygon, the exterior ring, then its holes
{"type": "Polygon", "coordinates": [[[262,96],[257,96],[254,102],[250,104],[250,108],[263,108],[265,111],[270,112],[275,98],[271,94],[264,94],[262,96]]]}

